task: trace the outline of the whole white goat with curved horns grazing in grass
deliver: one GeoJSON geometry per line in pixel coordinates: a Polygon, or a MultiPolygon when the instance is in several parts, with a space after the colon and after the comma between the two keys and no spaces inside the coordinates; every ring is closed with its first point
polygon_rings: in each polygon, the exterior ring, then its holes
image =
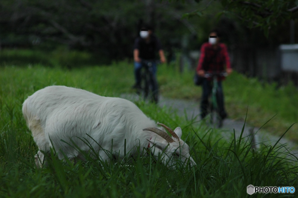
{"type": "Polygon", "coordinates": [[[65,155],[74,158],[82,157],[75,147],[88,152],[89,146],[104,161],[110,160],[106,151],[123,158],[125,149],[129,155],[134,155],[139,146],[151,148],[155,158],[160,154],[168,166],[175,165],[176,160],[195,165],[189,146],[180,139],[180,127],[173,131],[157,123],[173,135],[170,137],[134,103],[125,99],[98,96],[77,88],[49,86],[29,96],[22,110],[39,148],[35,155],[38,167],[44,161],[41,151],[49,152],[54,148],[59,159],[65,155]]]}

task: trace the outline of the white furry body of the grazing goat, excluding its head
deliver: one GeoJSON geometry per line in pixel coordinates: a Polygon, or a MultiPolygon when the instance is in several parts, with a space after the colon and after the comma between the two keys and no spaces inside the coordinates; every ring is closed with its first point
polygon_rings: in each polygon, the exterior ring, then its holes
{"type": "Polygon", "coordinates": [[[146,124],[154,124],[128,100],[65,86],[49,86],[36,91],[25,100],[22,110],[33,138],[42,150],[54,146],[56,150],[70,152],[70,147],[62,144],[61,139],[67,142],[72,139],[82,150],[88,150],[83,141],[74,137],[94,142],[89,136],[96,141],[91,146],[109,149],[111,139],[117,145],[125,138],[134,138],[130,134],[134,128],[139,126],[141,130],[146,124]]]}

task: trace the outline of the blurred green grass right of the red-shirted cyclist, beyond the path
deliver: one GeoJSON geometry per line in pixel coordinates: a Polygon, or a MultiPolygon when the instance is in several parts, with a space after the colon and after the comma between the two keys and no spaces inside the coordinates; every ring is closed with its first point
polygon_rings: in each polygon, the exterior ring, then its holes
{"type": "MultiPolygon", "coordinates": [[[[230,114],[234,118],[242,118],[240,113],[248,107],[248,122],[260,127],[266,121],[269,132],[281,135],[293,123],[298,122],[298,92],[293,83],[278,87],[276,83],[261,83],[256,78],[248,78],[234,73],[226,79],[225,96],[230,114]]],[[[287,137],[298,141],[295,124],[287,137]]]]}

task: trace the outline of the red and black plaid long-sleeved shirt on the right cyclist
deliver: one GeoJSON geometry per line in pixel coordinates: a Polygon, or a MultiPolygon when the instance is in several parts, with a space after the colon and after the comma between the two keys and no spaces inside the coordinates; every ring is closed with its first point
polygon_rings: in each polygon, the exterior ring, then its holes
{"type": "Polygon", "coordinates": [[[231,68],[228,50],[224,43],[218,43],[216,49],[213,49],[210,43],[202,45],[197,71],[221,72],[225,70],[225,65],[226,68],[231,68]]]}

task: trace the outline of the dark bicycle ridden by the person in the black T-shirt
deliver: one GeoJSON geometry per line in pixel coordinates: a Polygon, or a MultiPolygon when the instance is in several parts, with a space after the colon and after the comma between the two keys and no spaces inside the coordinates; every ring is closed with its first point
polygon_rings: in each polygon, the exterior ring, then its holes
{"type": "Polygon", "coordinates": [[[158,102],[158,83],[153,75],[153,64],[157,64],[156,60],[142,60],[141,71],[141,85],[137,89],[137,93],[143,96],[144,100],[147,98],[151,102],[158,102]]]}

